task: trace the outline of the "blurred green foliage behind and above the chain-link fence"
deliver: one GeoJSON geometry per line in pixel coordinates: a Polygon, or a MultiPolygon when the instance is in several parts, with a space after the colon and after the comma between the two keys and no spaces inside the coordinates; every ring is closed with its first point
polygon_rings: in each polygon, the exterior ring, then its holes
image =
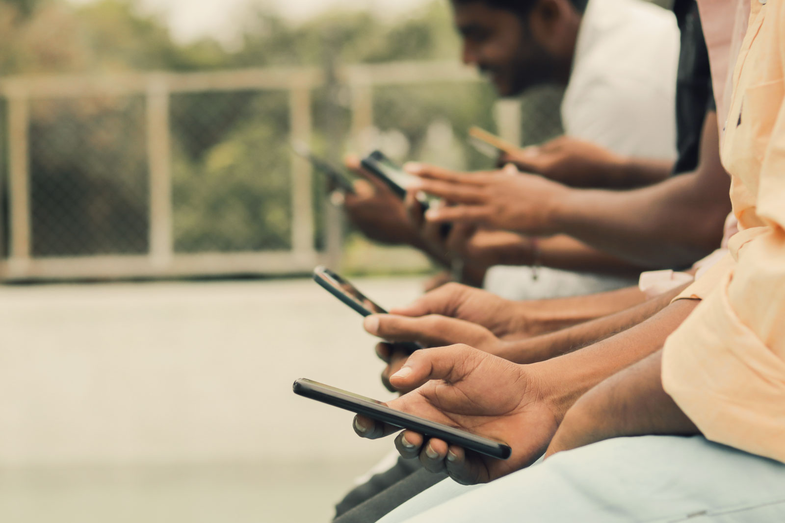
{"type": "MultiPolygon", "coordinates": [[[[327,67],[453,59],[458,53],[446,0],[434,0],[396,20],[345,11],[302,24],[266,11],[247,18],[252,21],[244,24],[239,45],[227,49],[210,39],[173,41],[161,20],[142,14],[131,0],[82,6],[57,0],[0,0],[0,74],[327,67]]],[[[469,125],[493,129],[493,96],[486,85],[385,88],[374,94],[380,133],[397,133],[406,143],[397,159],[419,154],[428,158],[441,143],[431,135],[455,132],[447,147],[454,152],[455,166],[487,165],[460,136],[469,125]],[[444,131],[445,122],[452,131],[444,131]]],[[[340,86],[314,93],[314,143],[333,158],[345,147],[341,136],[349,132],[345,95],[340,86]]],[[[178,252],[290,245],[287,104],[286,93],[172,97],[178,252]]],[[[148,195],[143,101],[36,101],[32,114],[35,253],[144,252],[148,195]]],[[[315,187],[319,209],[320,181],[316,179],[315,187]]],[[[319,209],[317,230],[322,227],[319,209]]],[[[319,238],[315,242],[318,245],[319,238]]]]}

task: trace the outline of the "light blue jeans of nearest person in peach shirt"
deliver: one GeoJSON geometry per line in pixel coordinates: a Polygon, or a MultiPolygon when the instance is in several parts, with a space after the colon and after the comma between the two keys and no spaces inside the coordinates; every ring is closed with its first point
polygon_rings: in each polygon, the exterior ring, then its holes
{"type": "Polygon", "coordinates": [[[702,437],[618,438],[487,485],[447,479],[380,523],[403,521],[783,523],[785,464],[702,437]]]}

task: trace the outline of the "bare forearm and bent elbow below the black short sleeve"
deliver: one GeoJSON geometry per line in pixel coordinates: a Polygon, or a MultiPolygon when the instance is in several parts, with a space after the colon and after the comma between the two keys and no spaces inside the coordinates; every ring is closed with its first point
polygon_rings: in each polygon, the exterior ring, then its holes
{"type": "Polygon", "coordinates": [[[633,191],[571,190],[554,205],[557,230],[644,267],[686,267],[722,238],[729,178],[719,162],[716,118],[703,127],[701,164],[633,191]]]}

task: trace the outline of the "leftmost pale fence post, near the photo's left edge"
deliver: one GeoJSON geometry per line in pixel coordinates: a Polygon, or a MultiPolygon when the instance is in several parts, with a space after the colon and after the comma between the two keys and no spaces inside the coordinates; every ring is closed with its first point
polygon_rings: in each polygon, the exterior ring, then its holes
{"type": "Polygon", "coordinates": [[[24,274],[31,256],[30,100],[16,87],[8,95],[9,272],[24,274]]]}

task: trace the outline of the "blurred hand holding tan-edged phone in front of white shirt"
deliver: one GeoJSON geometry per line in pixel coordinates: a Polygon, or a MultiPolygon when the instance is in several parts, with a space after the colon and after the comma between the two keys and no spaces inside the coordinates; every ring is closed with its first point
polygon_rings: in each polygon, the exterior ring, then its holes
{"type": "Polygon", "coordinates": [[[499,163],[512,163],[525,173],[572,187],[593,187],[596,180],[621,169],[624,158],[594,143],[559,136],[540,146],[502,153],[499,163]]]}

